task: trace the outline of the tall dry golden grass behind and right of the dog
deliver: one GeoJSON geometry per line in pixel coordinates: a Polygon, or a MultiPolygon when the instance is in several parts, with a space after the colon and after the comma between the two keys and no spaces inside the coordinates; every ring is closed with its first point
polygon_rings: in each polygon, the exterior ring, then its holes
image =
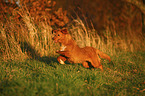
{"type": "Polygon", "coordinates": [[[100,32],[97,32],[95,29],[87,28],[80,18],[74,20],[69,29],[73,38],[81,47],[93,46],[111,55],[122,51],[144,51],[143,34],[131,32],[130,30],[124,30],[128,32],[119,34],[115,30],[114,22],[110,21],[109,23],[111,23],[112,27],[106,26],[106,30],[102,31],[103,35],[100,35],[100,32]]]}

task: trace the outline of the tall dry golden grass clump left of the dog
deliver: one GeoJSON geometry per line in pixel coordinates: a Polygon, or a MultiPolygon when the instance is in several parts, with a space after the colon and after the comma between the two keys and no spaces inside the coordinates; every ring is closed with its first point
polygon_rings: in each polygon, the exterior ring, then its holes
{"type": "Polygon", "coordinates": [[[52,41],[52,28],[46,22],[35,24],[30,14],[23,10],[21,21],[8,19],[0,25],[1,54],[4,60],[24,57],[42,57],[54,54],[57,48],[52,41]]]}

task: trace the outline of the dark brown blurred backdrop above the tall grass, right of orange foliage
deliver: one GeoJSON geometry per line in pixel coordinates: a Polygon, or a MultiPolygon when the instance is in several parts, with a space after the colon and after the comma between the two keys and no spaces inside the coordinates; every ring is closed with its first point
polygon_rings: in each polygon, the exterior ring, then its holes
{"type": "MultiPolygon", "coordinates": [[[[114,23],[118,32],[128,30],[140,33],[144,29],[145,0],[56,0],[57,7],[67,10],[69,16],[86,17],[89,28],[104,30],[114,23]],[[138,3],[142,4],[138,5],[138,3]],[[91,25],[93,23],[93,26],[91,25]]],[[[83,20],[85,22],[85,20],[83,20]]]]}

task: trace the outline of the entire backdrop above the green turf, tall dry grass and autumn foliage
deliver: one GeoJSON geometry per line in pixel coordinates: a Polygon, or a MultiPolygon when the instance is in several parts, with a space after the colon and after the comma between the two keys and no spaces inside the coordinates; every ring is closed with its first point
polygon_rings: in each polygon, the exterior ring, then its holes
{"type": "Polygon", "coordinates": [[[55,54],[57,28],[67,28],[80,46],[110,54],[144,51],[145,0],[0,1],[2,58],[55,54]]]}

